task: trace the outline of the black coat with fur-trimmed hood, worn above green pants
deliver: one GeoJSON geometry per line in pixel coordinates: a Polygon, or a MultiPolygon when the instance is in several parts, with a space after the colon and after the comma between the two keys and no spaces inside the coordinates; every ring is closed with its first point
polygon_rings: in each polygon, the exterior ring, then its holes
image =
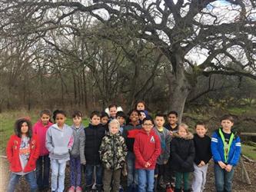
{"type": "Polygon", "coordinates": [[[185,173],[194,171],[194,141],[193,134],[181,138],[174,134],[171,141],[171,169],[185,173]]]}

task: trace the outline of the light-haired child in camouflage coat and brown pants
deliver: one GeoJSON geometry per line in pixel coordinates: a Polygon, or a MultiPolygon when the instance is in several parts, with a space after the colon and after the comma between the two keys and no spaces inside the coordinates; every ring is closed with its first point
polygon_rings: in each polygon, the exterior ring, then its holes
{"type": "Polygon", "coordinates": [[[120,187],[121,168],[125,164],[127,147],[124,137],[119,134],[120,124],[113,119],[109,122],[109,132],[103,137],[100,147],[101,161],[104,166],[104,191],[118,192],[120,187]]]}

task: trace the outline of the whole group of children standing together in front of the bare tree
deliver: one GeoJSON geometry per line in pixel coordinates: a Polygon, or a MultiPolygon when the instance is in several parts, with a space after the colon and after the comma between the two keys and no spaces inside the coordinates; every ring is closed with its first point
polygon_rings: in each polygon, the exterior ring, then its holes
{"type": "Polygon", "coordinates": [[[167,124],[164,114],[156,114],[153,120],[144,101],[128,113],[128,119],[115,104],[108,113],[93,111],[88,127],[82,125],[80,111],[72,114],[71,127],[65,124],[65,111],[54,112],[54,124],[50,118],[50,111],[43,110],[33,127],[28,118],[15,122],[15,134],[6,149],[12,171],[8,191],[15,190],[22,176],[31,191],[48,188],[50,167],[51,190],[64,191],[65,167],[70,161],[69,192],[82,191],[81,165],[85,165],[86,191],[95,185],[98,192],[117,192],[122,190],[121,180],[126,180],[126,191],[161,191],[165,186],[169,191],[173,187],[175,191],[201,192],[211,157],[216,190],[231,191],[241,143],[231,129],[230,115],[221,118],[221,127],[211,138],[202,122],[191,134],[187,124],[178,124],[175,111],[168,114],[167,124]]]}

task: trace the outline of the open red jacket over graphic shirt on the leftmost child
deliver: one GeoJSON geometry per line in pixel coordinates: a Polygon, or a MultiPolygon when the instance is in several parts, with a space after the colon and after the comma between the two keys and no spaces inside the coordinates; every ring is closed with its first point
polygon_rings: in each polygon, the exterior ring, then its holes
{"type": "MultiPolygon", "coordinates": [[[[6,147],[6,154],[8,161],[10,163],[10,170],[12,172],[21,172],[22,171],[22,164],[19,160],[19,148],[21,145],[22,138],[18,137],[17,135],[13,134],[7,144],[6,147]]],[[[23,172],[31,172],[35,170],[36,167],[36,160],[39,157],[39,143],[38,138],[34,134],[29,141],[30,146],[30,156],[28,159],[28,163],[24,167],[23,172]]]]}

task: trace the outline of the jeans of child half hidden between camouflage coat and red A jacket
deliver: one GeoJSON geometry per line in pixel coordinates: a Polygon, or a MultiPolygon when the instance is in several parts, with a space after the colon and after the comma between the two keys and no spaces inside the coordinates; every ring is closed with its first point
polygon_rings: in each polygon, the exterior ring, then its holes
{"type": "Polygon", "coordinates": [[[135,154],[128,151],[126,161],[128,169],[127,187],[130,187],[131,185],[136,186],[138,185],[138,171],[135,170],[135,154]]]}

